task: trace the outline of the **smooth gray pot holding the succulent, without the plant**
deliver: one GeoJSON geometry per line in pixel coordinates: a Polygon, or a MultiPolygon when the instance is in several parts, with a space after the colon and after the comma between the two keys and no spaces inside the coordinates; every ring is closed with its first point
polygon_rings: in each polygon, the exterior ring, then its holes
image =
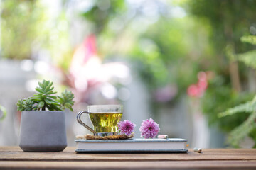
{"type": "Polygon", "coordinates": [[[20,145],[25,152],[58,152],[67,147],[62,111],[23,111],[20,145]]]}

